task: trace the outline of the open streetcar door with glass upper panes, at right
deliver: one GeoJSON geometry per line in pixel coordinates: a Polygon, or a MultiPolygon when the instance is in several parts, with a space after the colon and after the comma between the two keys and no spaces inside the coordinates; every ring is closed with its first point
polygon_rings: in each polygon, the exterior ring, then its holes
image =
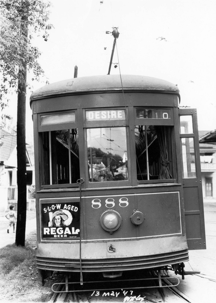
{"type": "Polygon", "coordinates": [[[179,109],[182,182],[188,249],[205,249],[205,222],[196,109],[179,109]]]}

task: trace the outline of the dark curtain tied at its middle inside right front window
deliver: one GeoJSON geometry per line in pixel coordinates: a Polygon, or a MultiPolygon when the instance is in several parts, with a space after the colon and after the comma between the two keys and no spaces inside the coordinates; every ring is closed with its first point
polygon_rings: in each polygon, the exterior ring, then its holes
{"type": "Polygon", "coordinates": [[[160,160],[161,160],[161,169],[158,176],[158,179],[172,179],[171,172],[169,170],[168,164],[172,161],[168,159],[167,152],[167,139],[166,139],[166,129],[165,126],[155,126],[158,143],[160,147],[160,160]]]}

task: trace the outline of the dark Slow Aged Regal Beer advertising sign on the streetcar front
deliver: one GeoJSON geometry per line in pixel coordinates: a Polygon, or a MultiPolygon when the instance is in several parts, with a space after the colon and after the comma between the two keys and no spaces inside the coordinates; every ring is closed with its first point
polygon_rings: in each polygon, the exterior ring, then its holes
{"type": "Polygon", "coordinates": [[[42,239],[80,238],[79,199],[40,201],[42,239]]]}

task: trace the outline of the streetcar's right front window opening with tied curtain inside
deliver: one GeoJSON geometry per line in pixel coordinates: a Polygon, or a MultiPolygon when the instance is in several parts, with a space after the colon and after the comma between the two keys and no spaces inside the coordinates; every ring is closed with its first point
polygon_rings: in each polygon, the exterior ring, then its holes
{"type": "MultiPolygon", "coordinates": [[[[172,127],[147,125],[149,180],[172,179],[172,127]]],[[[147,180],[145,126],[135,126],[137,179],[147,180]]]]}

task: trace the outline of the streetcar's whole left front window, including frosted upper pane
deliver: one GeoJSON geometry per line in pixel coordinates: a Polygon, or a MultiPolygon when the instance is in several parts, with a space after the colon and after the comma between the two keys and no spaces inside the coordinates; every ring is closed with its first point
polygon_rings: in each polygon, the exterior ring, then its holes
{"type": "Polygon", "coordinates": [[[76,112],[38,115],[41,185],[73,184],[80,178],[76,112]]]}

